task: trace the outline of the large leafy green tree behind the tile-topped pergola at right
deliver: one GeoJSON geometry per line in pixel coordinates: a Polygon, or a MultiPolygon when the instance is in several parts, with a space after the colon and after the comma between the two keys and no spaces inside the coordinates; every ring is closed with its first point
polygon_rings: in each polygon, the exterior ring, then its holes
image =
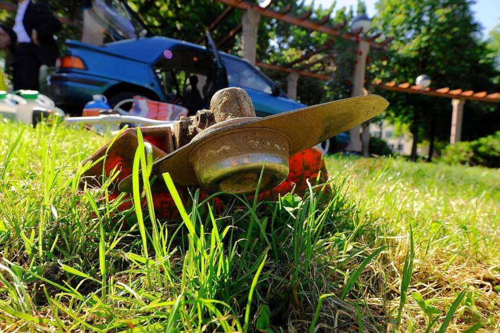
{"type": "MultiPolygon", "coordinates": [[[[377,61],[372,69],[379,70],[379,77],[384,80],[414,82],[416,76],[425,73],[435,87],[494,90],[492,78],[498,76],[498,72],[490,49],[480,40],[471,3],[471,0],[379,0],[376,3],[379,14],[374,23],[395,39],[387,59],[377,61]]],[[[422,138],[428,138],[432,146],[434,139],[449,137],[448,99],[384,94],[391,102],[387,117],[393,122],[410,124],[413,160],[416,159],[416,144],[422,138]]],[[[484,130],[476,131],[468,125],[474,118],[484,118],[494,107],[467,102],[464,137],[483,136],[484,130]]]]}

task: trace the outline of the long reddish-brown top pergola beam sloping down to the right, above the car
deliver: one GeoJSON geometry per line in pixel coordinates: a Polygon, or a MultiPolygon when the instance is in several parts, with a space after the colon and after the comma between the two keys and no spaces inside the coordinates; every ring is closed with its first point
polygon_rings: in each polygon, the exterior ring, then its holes
{"type": "Polygon", "coordinates": [[[374,47],[379,47],[379,48],[386,48],[387,47],[387,45],[383,42],[374,42],[372,40],[369,40],[369,38],[359,37],[351,32],[342,32],[342,31],[339,31],[335,28],[332,28],[331,26],[321,25],[321,24],[318,24],[318,23],[313,22],[313,21],[308,20],[308,19],[300,19],[299,17],[285,14],[285,13],[281,13],[279,11],[274,11],[274,10],[271,10],[268,8],[261,8],[258,4],[246,2],[244,0],[217,0],[217,1],[222,2],[228,6],[233,6],[233,7],[237,7],[240,9],[252,9],[252,10],[258,11],[263,16],[275,18],[275,19],[281,20],[283,22],[287,22],[290,24],[304,27],[306,29],[311,29],[311,30],[315,30],[315,31],[319,31],[319,32],[325,32],[325,33],[328,33],[332,36],[338,36],[338,37],[342,37],[344,39],[348,39],[348,40],[352,40],[352,41],[357,41],[358,39],[362,39],[362,40],[365,40],[366,42],[370,43],[371,46],[374,46],[374,47]]]}

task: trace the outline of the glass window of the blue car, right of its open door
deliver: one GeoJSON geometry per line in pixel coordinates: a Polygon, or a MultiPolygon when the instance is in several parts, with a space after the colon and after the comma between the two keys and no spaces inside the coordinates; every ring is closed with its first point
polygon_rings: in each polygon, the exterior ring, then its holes
{"type": "Polygon", "coordinates": [[[272,85],[262,73],[244,60],[224,56],[224,65],[227,71],[229,84],[250,88],[253,90],[272,93],[272,85]]]}

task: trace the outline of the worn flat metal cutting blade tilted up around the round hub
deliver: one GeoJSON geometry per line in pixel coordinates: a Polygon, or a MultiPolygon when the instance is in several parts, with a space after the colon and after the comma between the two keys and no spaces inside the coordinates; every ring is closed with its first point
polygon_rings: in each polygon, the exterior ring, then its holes
{"type": "MultiPolygon", "coordinates": [[[[259,128],[275,130],[289,138],[291,156],[374,117],[387,106],[387,100],[381,96],[363,95],[267,117],[250,118],[248,121],[207,131],[206,134],[201,132],[188,144],[154,161],[151,176],[156,176],[156,181],[152,184],[151,190],[160,191],[166,188],[161,176],[164,172],[169,172],[172,180],[178,185],[197,184],[198,180],[189,162],[189,155],[197,145],[217,135],[248,128],[255,128],[256,131],[259,128]]],[[[118,184],[118,189],[132,192],[132,177],[124,178],[118,184]]]]}

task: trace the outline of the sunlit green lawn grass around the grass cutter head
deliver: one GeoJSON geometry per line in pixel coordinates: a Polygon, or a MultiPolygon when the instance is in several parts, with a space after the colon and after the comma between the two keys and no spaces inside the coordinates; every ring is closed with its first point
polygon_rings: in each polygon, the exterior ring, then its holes
{"type": "Polygon", "coordinates": [[[328,156],[324,191],[224,208],[165,174],[158,220],[147,185],[122,211],[78,188],[110,137],[21,129],[0,123],[2,332],[500,330],[498,170],[328,156]]]}

